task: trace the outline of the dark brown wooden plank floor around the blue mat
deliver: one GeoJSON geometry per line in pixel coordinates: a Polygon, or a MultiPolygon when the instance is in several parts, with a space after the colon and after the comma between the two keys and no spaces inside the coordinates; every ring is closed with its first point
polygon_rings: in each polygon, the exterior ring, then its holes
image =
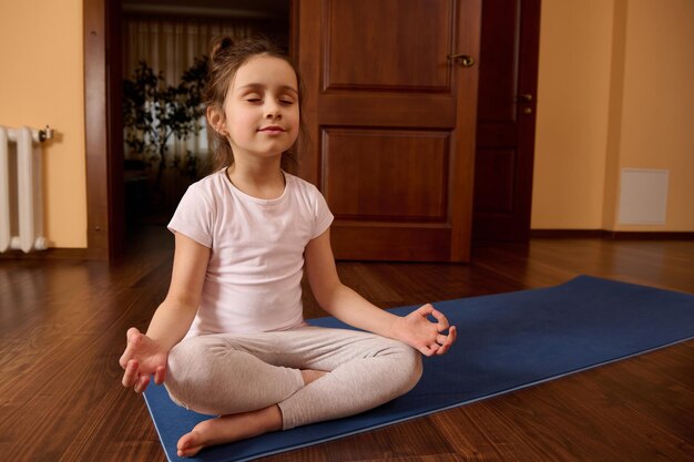
{"type": "MultiPolygon", "coordinates": [[[[126,261],[0,259],[0,459],[165,461],[118,366],[170,277],[172,239],[126,261]]],[[[579,274],[694,292],[694,243],[534,239],[470,265],[340,263],[382,307],[532,287],[579,274]]],[[[306,297],[307,316],[319,316],[306,297]]],[[[694,461],[694,342],[265,461],[694,461]]]]}

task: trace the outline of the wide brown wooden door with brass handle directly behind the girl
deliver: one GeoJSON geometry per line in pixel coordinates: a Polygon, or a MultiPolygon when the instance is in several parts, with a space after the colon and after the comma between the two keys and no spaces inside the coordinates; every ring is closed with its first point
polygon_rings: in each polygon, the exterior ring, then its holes
{"type": "Polygon", "coordinates": [[[340,259],[469,260],[481,0],[302,0],[309,142],[340,259]]]}

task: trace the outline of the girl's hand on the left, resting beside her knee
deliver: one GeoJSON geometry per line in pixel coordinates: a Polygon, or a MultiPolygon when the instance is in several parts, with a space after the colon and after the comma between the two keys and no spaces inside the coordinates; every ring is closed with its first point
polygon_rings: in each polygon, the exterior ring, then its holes
{"type": "Polygon", "coordinates": [[[123,386],[133,387],[135,393],[143,392],[154,374],[156,384],[164,383],[169,352],[156,341],[132,327],[127,330],[127,346],[119,363],[125,370],[123,386]]]}

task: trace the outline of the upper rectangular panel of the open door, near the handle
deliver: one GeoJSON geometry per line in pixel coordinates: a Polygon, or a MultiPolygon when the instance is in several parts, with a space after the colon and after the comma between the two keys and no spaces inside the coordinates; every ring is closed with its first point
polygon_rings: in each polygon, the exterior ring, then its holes
{"type": "Polygon", "coordinates": [[[450,71],[442,58],[450,48],[452,1],[343,0],[325,7],[324,91],[449,91],[450,71]],[[422,24],[441,29],[420,33],[422,24]]]}

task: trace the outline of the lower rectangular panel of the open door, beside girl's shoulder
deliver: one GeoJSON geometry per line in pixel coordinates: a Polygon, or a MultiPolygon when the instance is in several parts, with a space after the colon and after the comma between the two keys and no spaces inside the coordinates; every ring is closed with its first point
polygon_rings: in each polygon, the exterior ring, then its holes
{"type": "Polygon", "coordinates": [[[326,129],[322,184],[335,217],[443,222],[448,138],[443,132],[326,129]]]}

